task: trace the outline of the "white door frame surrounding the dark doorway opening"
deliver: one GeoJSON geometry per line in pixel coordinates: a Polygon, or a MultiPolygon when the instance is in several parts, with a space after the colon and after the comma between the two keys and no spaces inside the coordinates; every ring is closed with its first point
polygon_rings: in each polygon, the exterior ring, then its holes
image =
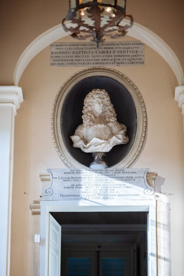
{"type": "Polygon", "coordinates": [[[40,276],[48,276],[49,212],[149,212],[148,276],[157,276],[156,200],[41,201],[40,276]]]}

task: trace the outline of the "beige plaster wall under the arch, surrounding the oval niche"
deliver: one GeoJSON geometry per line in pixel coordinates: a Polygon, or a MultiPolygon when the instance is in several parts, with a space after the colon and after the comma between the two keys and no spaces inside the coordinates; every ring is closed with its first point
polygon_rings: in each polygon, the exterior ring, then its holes
{"type": "MultiPolygon", "coordinates": [[[[59,41],[69,41],[66,37],[59,41]]],[[[126,40],[134,40],[126,37],[126,40]]],[[[64,168],[51,136],[51,110],[59,87],[82,67],[50,67],[50,48],[41,51],[25,69],[19,86],[24,102],[15,117],[12,202],[11,276],[30,276],[33,217],[29,204],[41,195],[39,173],[64,168]]],[[[162,191],[171,202],[172,275],[182,276],[183,252],[183,116],[174,101],[177,80],[158,53],[145,45],[145,66],[113,67],[139,88],[148,112],[148,137],[134,165],[149,167],[165,178],[162,191]],[[176,254],[177,252],[177,254],[176,254]]],[[[83,99],[81,99],[83,100],[83,99]]]]}

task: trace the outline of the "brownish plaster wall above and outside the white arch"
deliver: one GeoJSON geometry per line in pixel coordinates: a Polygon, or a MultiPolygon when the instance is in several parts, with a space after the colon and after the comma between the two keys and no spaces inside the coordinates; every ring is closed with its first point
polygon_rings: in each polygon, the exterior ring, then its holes
{"type": "MultiPolygon", "coordinates": [[[[2,0],[0,6],[0,85],[13,84],[16,63],[25,48],[40,34],[61,23],[68,0],[2,0]]],[[[127,0],[126,13],[160,36],[184,68],[184,2],[182,0],[127,0]]]]}

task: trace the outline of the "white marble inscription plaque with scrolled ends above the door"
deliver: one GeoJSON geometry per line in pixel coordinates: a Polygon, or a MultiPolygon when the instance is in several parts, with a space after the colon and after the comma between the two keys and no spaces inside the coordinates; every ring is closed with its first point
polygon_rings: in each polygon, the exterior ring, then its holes
{"type": "MultiPolygon", "coordinates": [[[[49,185],[42,200],[132,200],[153,199],[154,185],[148,184],[149,169],[48,169],[49,185]],[[151,185],[151,186],[150,186],[151,185]]],[[[155,175],[155,174],[154,174],[155,175]]]]}

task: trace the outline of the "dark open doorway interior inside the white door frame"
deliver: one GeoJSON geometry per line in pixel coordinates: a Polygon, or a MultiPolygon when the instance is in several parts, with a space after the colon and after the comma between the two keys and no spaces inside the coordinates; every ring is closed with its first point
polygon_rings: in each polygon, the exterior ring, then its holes
{"type": "Polygon", "coordinates": [[[148,275],[148,212],[50,214],[62,229],[60,275],[148,275]]]}

